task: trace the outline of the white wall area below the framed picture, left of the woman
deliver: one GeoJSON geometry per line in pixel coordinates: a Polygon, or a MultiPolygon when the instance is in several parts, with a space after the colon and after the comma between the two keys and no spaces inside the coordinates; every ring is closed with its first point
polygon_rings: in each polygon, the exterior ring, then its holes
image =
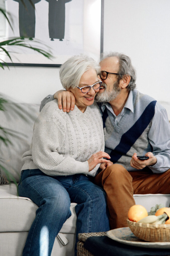
{"type": "Polygon", "coordinates": [[[40,103],[48,94],[63,89],[56,67],[5,67],[0,69],[0,91],[20,102],[40,103]]]}

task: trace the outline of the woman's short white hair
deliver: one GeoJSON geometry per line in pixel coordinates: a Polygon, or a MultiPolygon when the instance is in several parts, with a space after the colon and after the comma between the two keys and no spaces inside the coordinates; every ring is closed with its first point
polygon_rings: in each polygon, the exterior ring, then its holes
{"type": "Polygon", "coordinates": [[[91,57],[86,55],[72,56],[60,67],[60,81],[65,89],[79,86],[81,76],[89,69],[95,69],[98,74],[99,64],[91,57]]]}

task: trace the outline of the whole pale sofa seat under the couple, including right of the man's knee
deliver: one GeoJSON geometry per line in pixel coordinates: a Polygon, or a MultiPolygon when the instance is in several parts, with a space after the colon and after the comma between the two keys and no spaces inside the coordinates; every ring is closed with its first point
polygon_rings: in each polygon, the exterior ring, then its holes
{"type": "MultiPolygon", "coordinates": [[[[169,207],[170,195],[146,194],[134,195],[136,204],[143,205],[147,211],[152,206],[163,204],[169,207]]],[[[29,231],[33,220],[35,219],[38,206],[31,199],[17,196],[17,187],[14,183],[0,186],[0,232],[25,232],[29,231]]],[[[60,233],[75,233],[76,214],[75,203],[71,203],[71,217],[66,220],[60,233]]]]}

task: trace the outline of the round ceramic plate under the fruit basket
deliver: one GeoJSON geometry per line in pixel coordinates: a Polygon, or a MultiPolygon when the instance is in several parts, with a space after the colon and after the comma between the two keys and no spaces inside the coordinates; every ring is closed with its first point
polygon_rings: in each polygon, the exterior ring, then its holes
{"type": "Polygon", "coordinates": [[[116,228],[113,230],[109,230],[106,232],[106,235],[120,243],[138,246],[138,247],[146,247],[146,248],[170,248],[170,242],[146,242],[137,238],[129,227],[127,228],[116,228]]]}

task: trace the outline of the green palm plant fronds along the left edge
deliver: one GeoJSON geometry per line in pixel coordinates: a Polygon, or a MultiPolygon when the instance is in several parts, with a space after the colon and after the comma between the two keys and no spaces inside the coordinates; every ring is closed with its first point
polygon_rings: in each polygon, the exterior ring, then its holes
{"type": "MultiPolygon", "coordinates": [[[[32,7],[35,9],[34,7],[34,4],[32,3],[31,0],[28,0],[32,7]]],[[[25,5],[24,1],[21,0],[22,4],[24,5],[25,9],[27,9],[27,6],[25,5]]],[[[0,13],[3,14],[3,16],[5,17],[5,19],[7,20],[9,26],[11,27],[12,31],[13,31],[13,28],[12,28],[12,23],[13,23],[13,20],[12,20],[12,16],[10,15],[10,13],[7,13],[6,10],[0,8],[0,13]]],[[[30,48],[31,50],[34,50],[42,55],[44,55],[46,58],[48,59],[51,59],[53,58],[52,54],[51,54],[51,50],[50,48],[46,46],[46,48],[42,48],[45,46],[45,44],[43,44],[41,41],[38,41],[38,40],[34,40],[34,42],[36,44],[38,44],[38,47],[34,47],[33,45],[30,45],[28,42],[23,42],[23,40],[21,40],[21,37],[16,37],[16,38],[8,38],[7,40],[5,41],[1,41],[0,42],[0,54],[4,54],[8,56],[8,58],[11,60],[11,62],[13,63],[12,61],[12,57],[11,57],[11,51],[8,51],[6,49],[6,47],[13,47],[15,46],[16,49],[17,49],[17,46],[18,47],[25,47],[25,48],[30,48]],[[39,47],[40,45],[40,47],[39,47]],[[46,50],[48,49],[48,50],[46,50]]],[[[12,53],[14,53],[14,51],[12,51],[12,53]]],[[[0,67],[2,69],[4,69],[4,65],[6,65],[8,67],[8,63],[6,63],[2,58],[0,58],[0,67]]],[[[9,67],[8,67],[9,69],[9,67]]],[[[31,118],[33,118],[29,112],[23,112],[23,110],[21,108],[18,107],[17,104],[15,104],[14,102],[11,102],[10,100],[6,100],[4,99],[4,97],[2,95],[0,95],[0,111],[5,111],[6,114],[10,117],[10,115],[12,114],[13,116],[15,115],[19,115],[22,117],[22,119],[24,120],[29,120],[31,118]],[[10,106],[10,103],[12,103],[12,108],[10,106]],[[10,111],[9,111],[10,110],[10,111]],[[11,111],[12,110],[12,111],[11,111]],[[26,116],[26,118],[25,118],[26,116]]],[[[6,129],[4,127],[1,127],[0,126],[0,142],[2,142],[2,144],[5,144],[6,147],[8,147],[9,144],[12,144],[11,142],[11,137],[23,137],[24,134],[22,133],[18,133],[18,132],[15,132],[11,129],[6,129]]],[[[2,145],[0,144],[0,145],[2,145]]],[[[0,152],[1,152],[1,148],[0,148],[0,152]]],[[[3,153],[3,152],[2,152],[3,153]]],[[[1,154],[2,155],[2,154],[1,154]]],[[[17,186],[17,182],[15,180],[15,178],[11,175],[11,173],[4,167],[4,165],[6,166],[6,162],[5,162],[5,159],[3,159],[2,157],[0,157],[0,172],[3,171],[7,177],[7,179],[10,181],[12,180],[16,186],[17,186]]],[[[12,166],[9,166],[10,168],[12,168],[12,166]]]]}

